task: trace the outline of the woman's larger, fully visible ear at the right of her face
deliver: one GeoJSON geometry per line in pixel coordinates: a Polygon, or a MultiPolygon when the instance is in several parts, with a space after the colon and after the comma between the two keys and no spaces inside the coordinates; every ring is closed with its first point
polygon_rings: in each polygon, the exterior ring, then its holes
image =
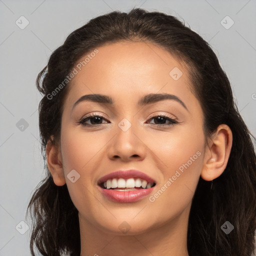
{"type": "Polygon", "coordinates": [[[210,181],[224,171],[232,146],[232,131],[226,124],[220,124],[213,138],[209,139],[204,154],[201,177],[210,181]]]}

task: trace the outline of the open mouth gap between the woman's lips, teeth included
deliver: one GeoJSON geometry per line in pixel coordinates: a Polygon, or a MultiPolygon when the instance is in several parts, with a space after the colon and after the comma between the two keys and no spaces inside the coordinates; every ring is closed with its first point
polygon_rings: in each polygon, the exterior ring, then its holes
{"type": "Polygon", "coordinates": [[[111,189],[116,191],[132,191],[137,189],[147,189],[155,186],[154,182],[147,182],[141,178],[112,178],[101,182],[99,186],[103,189],[111,189]]]}

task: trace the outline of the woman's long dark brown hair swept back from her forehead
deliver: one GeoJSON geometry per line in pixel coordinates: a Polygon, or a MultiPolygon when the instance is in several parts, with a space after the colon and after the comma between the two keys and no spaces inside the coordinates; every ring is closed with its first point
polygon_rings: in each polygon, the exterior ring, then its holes
{"type": "MultiPolygon", "coordinates": [[[[250,133],[233,100],[229,80],[216,55],[196,32],[176,17],[162,12],[133,8],[128,13],[113,11],[91,19],[71,32],[50,56],[36,79],[43,94],[39,104],[41,150],[45,160],[47,141],[55,143],[60,134],[62,105],[69,82],[56,89],[78,59],[105,43],[119,40],[155,43],[189,66],[192,92],[203,110],[205,136],[219,124],[227,124],[233,136],[224,172],[211,182],[199,178],[189,214],[187,248],[190,256],[250,256],[256,229],[256,156],[250,133]],[[211,188],[211,189],[210,189],[211,188]],[[221,225],[229,221],[229,234],[221,225]]],[[[80,255],[78,211],[66,184],[56,186],[45,164],[46,177],[36,187],[29,205],[33,220],[33,245],[45,256],[65,249],[80,255]]]]}

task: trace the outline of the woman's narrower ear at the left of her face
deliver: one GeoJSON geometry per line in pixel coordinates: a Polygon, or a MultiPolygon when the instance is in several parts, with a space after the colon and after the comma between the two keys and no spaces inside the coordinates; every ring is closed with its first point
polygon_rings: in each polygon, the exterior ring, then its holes
{"type": "MultiPolygon", "coordinates": [[[[51,136],[51,138],[53,138],[51,136]]],[[[57,186],[65,184],[65,176],[61,160],[60,146],[53,144],[49,139],[46,144],[47,166],[51,173],[54,183],[57,186]]]]}

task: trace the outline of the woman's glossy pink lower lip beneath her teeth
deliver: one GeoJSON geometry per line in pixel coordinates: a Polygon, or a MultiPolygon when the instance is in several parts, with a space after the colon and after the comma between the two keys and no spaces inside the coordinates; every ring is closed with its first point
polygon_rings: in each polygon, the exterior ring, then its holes
{"type": "Polygon", "coordinates": [[[136,202],[146,195],[148,195],[155,186],[147,189],[136,189],[130,191],[116,191],[113,189],[103,189],[99,186],[100,191],[103,195],[111,201],[115,202],[136,202]]]}

